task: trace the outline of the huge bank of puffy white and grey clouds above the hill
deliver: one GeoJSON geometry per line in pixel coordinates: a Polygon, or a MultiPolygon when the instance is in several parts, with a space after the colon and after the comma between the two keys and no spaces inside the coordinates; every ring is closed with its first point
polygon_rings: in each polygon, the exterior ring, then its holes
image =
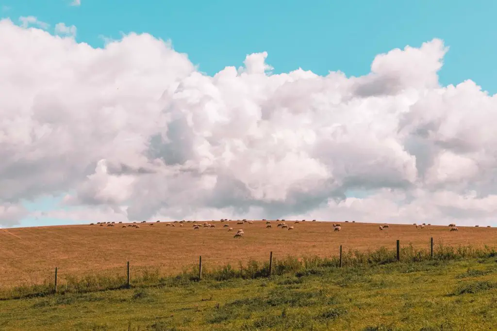
{"type": "Polygon", "coordinates": [[[65,192],[69,209],[46,215],[484,225],[497,211],[497,101],[440,86],[441,40],[361,77],[271,74],[265,52],[207,76],[148,34],[95,49],[9,20],[0,44],[0,224],[65,192]]]}

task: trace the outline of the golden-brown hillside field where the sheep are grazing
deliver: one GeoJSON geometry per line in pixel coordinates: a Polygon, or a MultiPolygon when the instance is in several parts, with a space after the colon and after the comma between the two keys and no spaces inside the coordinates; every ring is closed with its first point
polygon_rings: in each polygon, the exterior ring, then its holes
{"type": "MultiPolygon", "coordinates": [[[[198,222],[200,225],[203,221],[198,222]]],[[[412,244],[415,248],[429,250],[430,237],[435,245],[497,246],[497,229],[487,227],[459,227],[451,232],[448,226],[390,224],[382,231],[380,224],[344,223],[341,230],[333,231],[331,222],[286,221],[293,231],[267,229],[264,221],[237,225],[236,221],[212,222],[215,228],[194,230],[192,223],[183,227],[166,226],[165,222],[140,224],[140,228],[122,228],[98,225],[71,225],[13,228],[0,230],[0,287],[22,283],[39,283],[53,278],[54,268],[59,267],[59,277],[64,275],[124,273],[130,261],[132,273],[140,269],[159,268],[164,274],[181,272],[184,267],[198,263],[202,256],[204,268],[214,265],[238,265],[248,260],[265,261],[269,252],[275,259],[286,256],[330,257],[344,251],[375,249],[382,246],[395,248],[412,244]],[[235,231],[228,232],[224,224],[235,231]],[[244,229],[243,238],[233,238],[234,232],[244,229]]]]}

